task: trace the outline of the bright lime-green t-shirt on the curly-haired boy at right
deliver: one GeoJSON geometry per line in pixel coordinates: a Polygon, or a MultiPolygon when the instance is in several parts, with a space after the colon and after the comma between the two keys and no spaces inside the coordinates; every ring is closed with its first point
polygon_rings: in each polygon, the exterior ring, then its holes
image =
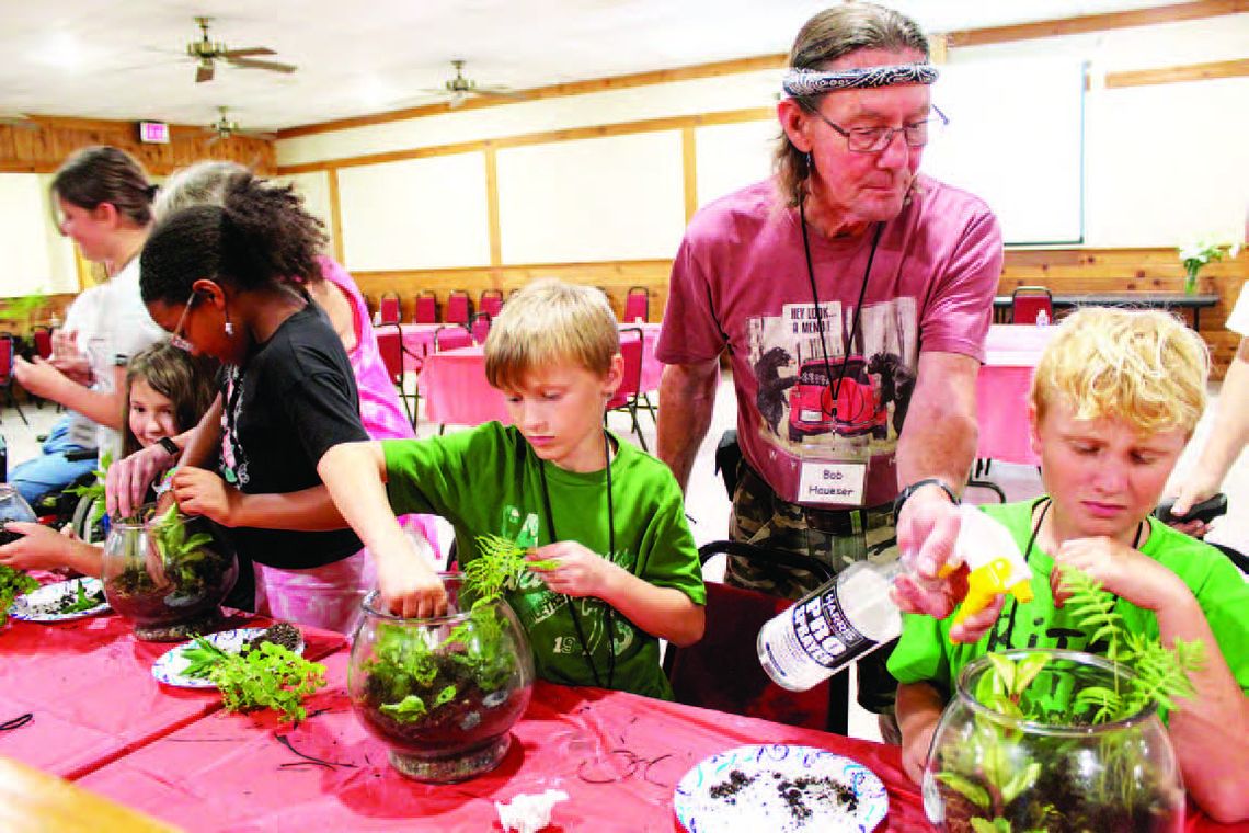
{"type": "MultiPolygon", "coordinates": [[[[1023,552],[1032,537],[1032,513],[1037,503],[1025,501],[980,508],[1010,530],[1023,552]]],[[[1149,518],[1149,540],[1140,552],[1179,576],[1193,592],[1232,674],[1240,689],[1249,693],[1249,584],[1240,571],[1214,547],[1155,518],[1149,518]]],[[[889,672],[903,683],[936,683],[949,696],[963,668],[990,651],[1033,647],[1089,651],[1089,634],[1075,623],[1070,606],[1054,607],[1049,589],[1054,559],[1034,545],[1028,564],[1035,599],[1019,606],[1007,599],[1002,616],[979,642],[953,644],[949,641],[953,617],[938,621],[931,616],[904,616],[902,637],[889,657],[889,672]]],[[[1158,618],[1153,611],[1122,598],[1115,611],[1129,632],[1158,637],[1158,618]]],[[[1104,653],[1103,648],[1094,646],[1092,652],[1104,653]]]]}

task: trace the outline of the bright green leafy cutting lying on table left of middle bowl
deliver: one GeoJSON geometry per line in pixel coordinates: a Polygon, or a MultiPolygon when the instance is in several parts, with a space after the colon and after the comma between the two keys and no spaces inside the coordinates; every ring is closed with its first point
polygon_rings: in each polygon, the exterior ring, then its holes
{"type": "Polygon", "coordinates": [[[302,637],[285,622],[270,626],[239,652],[224,651],[202,636],[194,643],[182,649],[190,663],[182,676],[211,681],[229,712],[271,708],[279,721],[302,721],[305,698],[325,687],[325,666],[297,653],[302,637]]]}

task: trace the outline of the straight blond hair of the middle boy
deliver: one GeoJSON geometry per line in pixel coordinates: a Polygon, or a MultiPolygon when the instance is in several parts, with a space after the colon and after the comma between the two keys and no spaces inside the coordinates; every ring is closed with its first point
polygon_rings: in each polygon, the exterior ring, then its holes
{"type": "Polygon", "coordinates": [[[507,300],[486,337],[486,378],[517,390],[525,377],[557,362],[606,376],[621,351],[616,313],[591,286],[533,281],[507,300]]]}

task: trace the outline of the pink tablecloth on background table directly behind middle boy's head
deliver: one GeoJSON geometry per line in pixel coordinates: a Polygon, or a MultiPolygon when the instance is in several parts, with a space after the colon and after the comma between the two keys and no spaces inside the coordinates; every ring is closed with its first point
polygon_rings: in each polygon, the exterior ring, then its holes
{"type": "MultiPolygon", "coordinates": [[[[659,325],[622,325],[623,337],[628,337],[628,330],[632,327],[641,328],[643,335],[641,390],[643,392],[658,390],[659,376],[663,373],[663,365],[654,357],[659,325]]],[[[437,425],[481,425],[492,420],[510,422],[503,395],[486,381],[486,358],[481,346],[431,352],[425,358],[425,367],[417,383],[425,398],[425,416],[430,422],[437,425]]]]}

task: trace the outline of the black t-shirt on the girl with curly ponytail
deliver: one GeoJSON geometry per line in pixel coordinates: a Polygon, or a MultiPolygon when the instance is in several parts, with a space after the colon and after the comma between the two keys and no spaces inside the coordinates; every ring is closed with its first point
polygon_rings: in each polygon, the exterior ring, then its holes
{"type": "MultiPolygon", "coordinates": [[[[316,305],[284,321],[245,365],[222,370],[221,476],[246,495],[320,486],[316,465],[331,446],[368,438],[347,352],[316,305]]],[[[287,569],[333,563],[362,546],[351,530],[229,533],[240,555],[287,569]]]]}

